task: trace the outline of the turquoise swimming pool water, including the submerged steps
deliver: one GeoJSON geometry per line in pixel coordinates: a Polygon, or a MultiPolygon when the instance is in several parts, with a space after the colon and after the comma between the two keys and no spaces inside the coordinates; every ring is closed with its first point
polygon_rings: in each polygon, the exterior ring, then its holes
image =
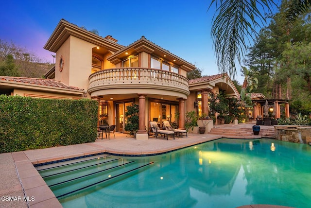
{"type": "Polygon", "coordinates": [[[36,168],[65,208],[311,207],[311,146],[275,139],[218,139],[158,156],[36,168]]]}

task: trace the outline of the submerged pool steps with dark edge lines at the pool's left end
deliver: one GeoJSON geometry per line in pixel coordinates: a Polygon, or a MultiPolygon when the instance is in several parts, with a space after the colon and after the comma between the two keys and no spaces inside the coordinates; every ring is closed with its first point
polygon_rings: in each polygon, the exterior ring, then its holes
{"type": "Polygon", "coordinates": [[[72,160],[40,166],[38,172],[57,198],[84,190],[86,188],[111,181],[111,179],[127,177],[128,173],[153,164],[153,162],[138,162],[112,156],[85,158],[85,161],[72,160]]]}

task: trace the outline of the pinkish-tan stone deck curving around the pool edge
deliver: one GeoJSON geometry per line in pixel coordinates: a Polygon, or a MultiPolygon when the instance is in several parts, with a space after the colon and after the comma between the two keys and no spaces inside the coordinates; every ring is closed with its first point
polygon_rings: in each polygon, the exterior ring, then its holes
{"type": "MultiPolygon", "coordinates": [[[[249,128],[251,128],[252,125],[253,124],[249,124],[249,128]]],[[[243,128],[244,127],[247,127],[247,124],[243,124],[243,128]]],[[[232,128],[232,126],[228,126],[228,128],[232,128]]],[[[220,138],[223,138],[223,136],[190,133],[188,138],[183,137],[174,140],[166,140],[150,137],[148,140],[139,141],[131,136],[116,133],[116,139],[114,139],[112,135],[111,140],[97,139],[92,143],[0,154],[0,207],[62,207],[45,181],[36,171],[34,164],[97,153],[136,156],[161,154],[220,138]],[[28,197],[28,200],[24,200],[25,196],[28,197]]],[[[254,136],[253,139],[257,138],[261,138],[261,136],[254,136]]],[[[267,206],[243,206],[243,208],[264,207],[267,206]]]]}

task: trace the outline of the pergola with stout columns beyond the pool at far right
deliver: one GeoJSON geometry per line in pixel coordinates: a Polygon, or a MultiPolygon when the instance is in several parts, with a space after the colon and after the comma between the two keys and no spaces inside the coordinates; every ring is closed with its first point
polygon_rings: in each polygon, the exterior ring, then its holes
{"type": "Polygon", "coordinates": [[[290,108],[288,100],[280,100],[280,99],[261,99],[261,100],[253,100],[254,103],[254,120],[257,118],[257,116],[264,115],[264,105],[266,104],[266,101],[269,104],[269,109],[274,112],[274,118],[280,118],[281,112],[280,112],[280,104],[285,104],[285,117],[290,117],[290,108]]]}

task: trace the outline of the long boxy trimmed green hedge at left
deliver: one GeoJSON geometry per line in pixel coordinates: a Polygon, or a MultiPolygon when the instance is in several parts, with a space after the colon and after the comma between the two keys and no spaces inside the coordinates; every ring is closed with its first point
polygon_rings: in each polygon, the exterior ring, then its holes
{"type": "Polygon", "coordinates": [[[86,99],[0,95],[0,153],[94,142],[97,113],[86,99]]]}

